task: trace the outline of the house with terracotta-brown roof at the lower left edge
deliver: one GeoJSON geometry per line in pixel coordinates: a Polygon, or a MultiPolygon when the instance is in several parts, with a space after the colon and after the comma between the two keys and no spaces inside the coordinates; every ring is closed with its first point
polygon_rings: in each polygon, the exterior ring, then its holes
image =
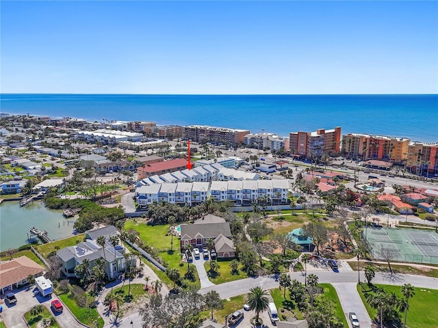
{"type": "Polygon", "coordinates": [[[3,261],[0,264],[0,289],[5,293],[13,288],[27,284],[27,277],[39,277],[44,272],[44,267],[34,262],[27,256],[20,256],[14,260],[3,261]]]}

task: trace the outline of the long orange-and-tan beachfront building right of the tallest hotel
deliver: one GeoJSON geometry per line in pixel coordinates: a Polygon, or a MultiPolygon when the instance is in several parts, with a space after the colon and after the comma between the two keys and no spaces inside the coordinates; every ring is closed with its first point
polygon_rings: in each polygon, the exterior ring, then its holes
{"type": "Polygon", "coordinates": [[[350,159],[390,159],[400,162],[407,158],[409,142],[407,138],[349,133],[342,137],[342,152],[350,159]]]}

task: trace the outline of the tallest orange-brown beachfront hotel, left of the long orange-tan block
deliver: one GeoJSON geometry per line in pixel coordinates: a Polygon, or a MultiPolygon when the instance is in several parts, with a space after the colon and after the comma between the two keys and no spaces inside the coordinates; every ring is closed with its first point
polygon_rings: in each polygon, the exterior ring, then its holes
{"type": "Polygon", "coordinates": [[[311,158],[323,154],[333,154],[340,150],[341,127],[332,130],[320,128],[314,132],[289,133],[289,146],[292,154],[311,158]]]}

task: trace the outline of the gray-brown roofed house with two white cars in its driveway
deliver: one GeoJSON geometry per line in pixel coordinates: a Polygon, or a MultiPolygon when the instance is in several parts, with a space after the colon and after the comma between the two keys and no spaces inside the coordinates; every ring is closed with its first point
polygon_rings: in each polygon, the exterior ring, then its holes
{"type": "Polygon", "coordinates": [[[185,245],[203,247],[207,245],[207,239],[214,240],[214,248],[218,258],[235,257],[235,247],[232,241],[229,223],[216,215],[203,215],[193,224],[181,224],[181,251],[185,245]]]}

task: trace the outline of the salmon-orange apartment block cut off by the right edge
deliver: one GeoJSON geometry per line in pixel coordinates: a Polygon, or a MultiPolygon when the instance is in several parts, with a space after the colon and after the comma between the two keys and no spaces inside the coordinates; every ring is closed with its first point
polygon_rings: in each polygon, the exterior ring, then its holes
{"type": "Polygon", "coordinates": [[[407,151],[407,166],[417,174],[438,174],[438,142],[412,141],[407,151]]]}

